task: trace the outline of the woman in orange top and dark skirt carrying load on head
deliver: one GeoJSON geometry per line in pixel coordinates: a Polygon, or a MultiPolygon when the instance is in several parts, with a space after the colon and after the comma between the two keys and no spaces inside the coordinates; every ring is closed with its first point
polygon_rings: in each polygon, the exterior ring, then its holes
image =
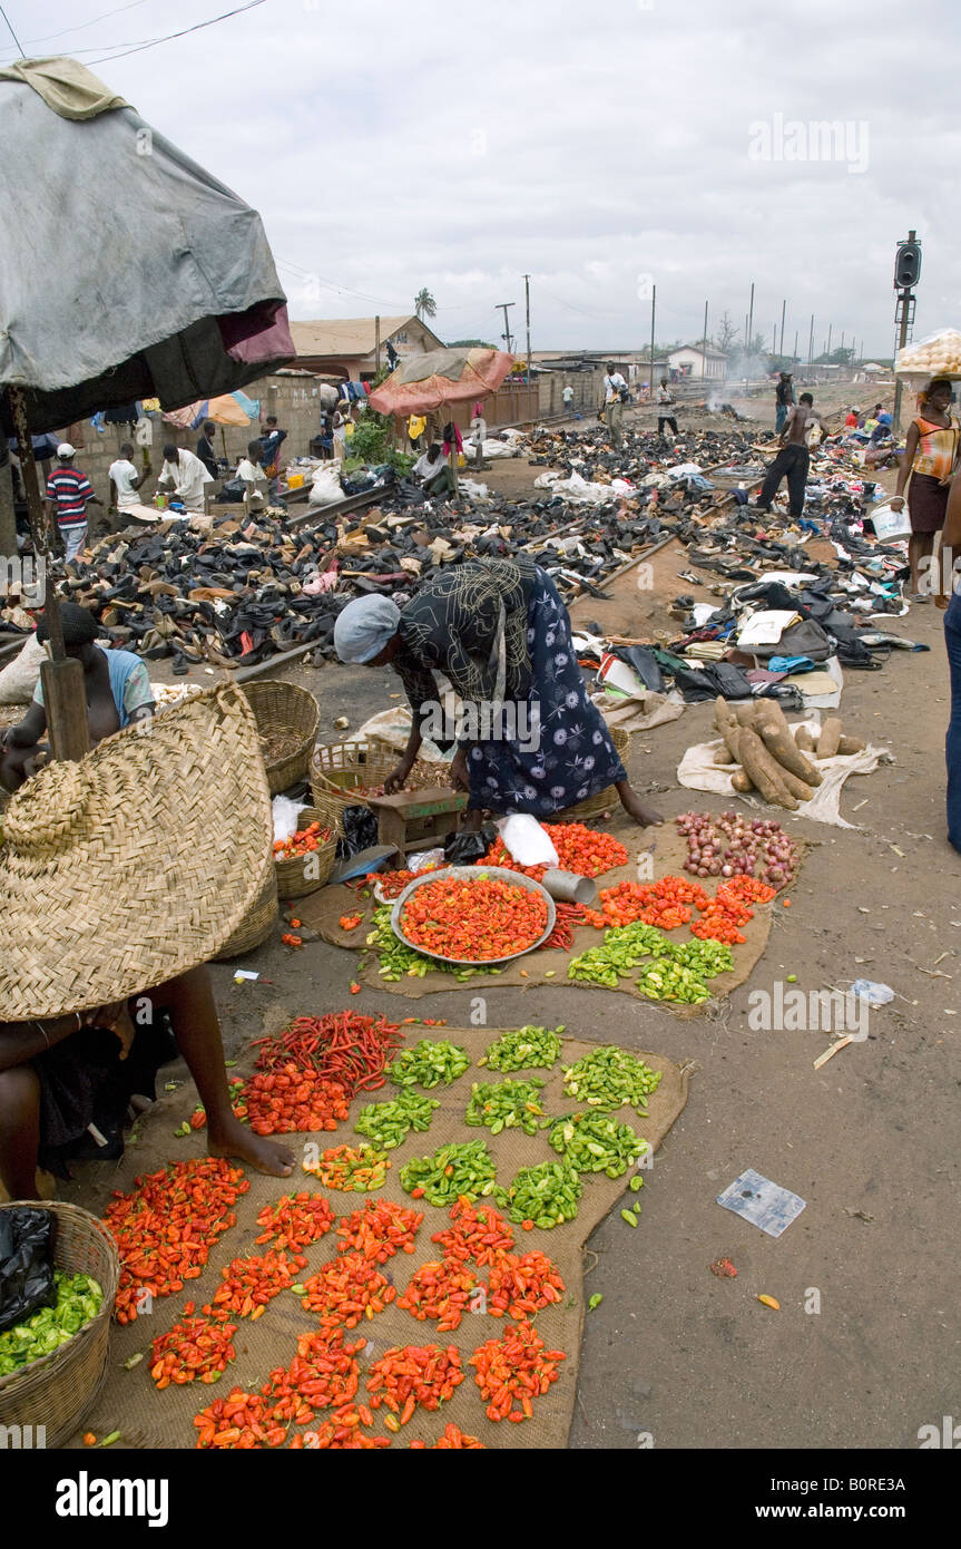
{"type": "Polygon", "coordinates": [[[891,500],[896,511],[904,508],[904,486],[910,477],[907,500],[911,520],[908,541],[911,590],[908,595],[913,603],[930,599],[930,589],[921,589],[922,561],[930,559],[935,533],[944,527],[949,486],[958,463],[959,426],[950,403],[952,384],[941,378],[930,381],[918,398],[918,414],[908,426],[898,469],[898,488],[891,500]]]}

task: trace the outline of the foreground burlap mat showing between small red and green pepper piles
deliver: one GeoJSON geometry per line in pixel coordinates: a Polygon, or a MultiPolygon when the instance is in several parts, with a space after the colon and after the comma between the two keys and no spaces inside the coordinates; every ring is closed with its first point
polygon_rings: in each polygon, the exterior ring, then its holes
{"type": "MultiPolygon", "coordinates": [[[[412,1025],[407,1029],[407,1042],[410,1046],[424,1036],[446,1038],[463,1044],[470,1053],[472,1064],[452,1086],[435,1087],[429,1094],[438,1098],[441,1104],[433,1112],[430,1129],[426,1134],[409,1134],[396,1151],[388,1152],[392,1168],[388,1171],[387,1188],[379,1197],[424,1211],[424,1221],[416,1239],[416,1252],[399,1253],[382,1266],[382,1273],[392,1283],[396,1283],[401,1290],[407,1287],[413,1270],[419,1264],[441,1255],[443,1250],[430,1241],[430,1236],[433,1231],[441,1231],[449,1225],[446,1210],[435,1208],[424,1199],[413,1200],[404,1193],[398,1182],[398,1173],[404,1162],[413,1156],[429,1156],[447,1142],[463,1143],[483,1137],[497,1166],[497,1180],[506,1185],[518,1168],[556,1159],[556,1152],[548,1146],[543,1131],[535,1135],[525,1135],[511,1129],[501,1131],[500,1135],[491,1135],[489,1129],[469,1128],[463,1121],[470,1097],[470,1083],[504,1080],[503,1075],[478,1069],[477,1066],[477,1060],[500,1036],[500,1032],[501,1029],[491,1027],[421,1029],[412,1025]]],[[[539,1077],[545,1080],[543,1106],[546,1114],[576,1112],[577,1104],[571,1098],[563,1097],[562,1092],[560,1063],[571,1064],[593,1047],[596,1046],[565,1038],[562,1060],[552,1072],[518,1070],[512,1072],[512,1075],[517,1078],[539,1077]]],[[[658,1090],[648,1098],[647,1118],[638,1118],[631,1108],[621,1108],[619,1118],[631,1125],[656,1149],[687,1101],[689,1067],[686,1064],[676,1066],[673,1061],[655,1053],[641,1053],[639,1058],[653,1070],[661,1070],[662,1081],[658,1090]]],[[[246,1061],[241,1063],[238,1073],[246,1073],[246,1061]]],[[[320,1142],[322,1146],[357,1145],[364,1137],[354,1134],[353,1121],[364,1103],[387,1100],[396,1097],[396,1094],[398,1087],[387,1083],[378,1092],[356,1098],[351,1104],[350,1121],[340,1125],[336,1134],[282,1135],[279,1139],[286,1140],[299,1156],[302,1145],[311,1140],[320,1142]]],[[[192,1084],[173,1098],[162,1098],[141,1123],[141,1140],[135,1148],[128,1148],[116,1173],[111,1174],[105,1166],[84,1168],[82,1177],[70,1185],[71,1196],[76,1194],[77,1202],[82,1202],[88,1210],[99,1211],[110,1202],[111,1190],[130,1190],[135,1176],[156,1171],[166,1160],[204,1156],[203,1132],[192,1132],[184,1140],[176,1140],[172,1134],[178,1123],[193,1111],[195,1101],[197,1095],[192,1084]]],[[[582,1177],[583,1194],[579,1200],[577,1218],[565,1222],[562,1227],[554,1227],[551,1231],[539,1228],[523,1231],[520,1225],[512,1228],[515,1252],[526,1253],[531,1248],[540,1248],[557,1264],[566,1287],[563,1300],[559,1304],[545,1307],[534,1320],[548,1349],[563,1349],[566,1360],[560,1363],[560,1379],[551,1386],[548,1394],[534,1400],[534,1417],[525,1420],[523,1425],[511,1425],[506,1420],[498,1424],[487,1420],[484,1400],[474,1382],[474,1368],[467,1366],[470,1354],[480,1345],[501,1335],[504,1324],[509,1321],[508,1318],[495,1318],[480,1312],[466,1314],[453,1334],[438,1335],[436,1324],[432,1320],[415,1320],[410,1312],[392,1304],[374,1318],[365,1318],[356,1331],[348,1331],[351,1340],[359,1337],[367,1338],[367,1348],[357,1355],[361,1363],[359,1402],[364,1402],[367,1397],[364,1386],[367,1366],[371,1360],[384,1355],[390,1346],[430,1343],[446,1346],[453,1343],[461,1351],[467,1380],[455,1391],[450,1403],[441,1405],[438,1411],[427,1413],[418,1406],[402,1431],[392,1436],[392,1447],[407,1448],[415,1439],[432,1445],[443,1434],[447,1420],[453,1420],[464,1433],[478,1436],[486,1447],[557,1448],[566,1445],[574,1414],[577,1362],[587,1297],[599,1289],[597,1279],[588,1279],[587,1290],[583,1287],[583,1244],[611,1208],[616,1207],[621,1210],[624,1205],[630,1205],[630,1208],[638,1210],[638,1207],[645,1204],[651,1182],[656,1188],[658,1174],[656,1168],[653,1168],[641,1174],[645,1179],[645,1187],[639,1193],[630,1193],[628,1179],[633,1173],[634,1168],[628,1168],[621,1179],[608,1179],[604,1173],[585,1174],[582,1177]]],[[[265,1315],[255,1323],[251,1323],[249,1318],[234,1320],[237,1323],[237,1334],[234,1335],[237,1360],[227,1368],[220,1382],[212,1385],[201,1382],[186,1383],[184,1386],[172,1385],[162,1393],[156,1391],[150,1377],[150,1340],[164,1334],[178,1321],[186,1301],[195,1301],[200,1312],[200,1307],[210,1300],[220,1284],[220,1270],[224,1264],[229,1264],[234,1258],[266,1252],[269,1244],[258,1247],[254,1241],[260,1233],[260,1227],[255,1224],[257,1214],[265,1205],[275,1204],[286,1193],[308,1190],[310,1193],[323,1194],[330,1200],[334,1216],[339,1218],[361,1210],[365,1199],[364,1194],[325,1190],[314,1177],[305,1174],[300,1166],[297,1166],[291,1179],[271,1179],[251,1171],[248,1177],[251,1190],[237,1202],[237,1225],[226,1231],[217,1247],[210,1250],[207,1267],[200,1279],[187,1281],[184,1290],[176,1297],[155,1301],[153,1312],[149,1317],[139,1317],[127,1327],[113,1326],[107,1382],[93,1411],[84,1420],[84,1431],[91,1430],[97,1436],[104,1436],[108,1431],[119,1430],[122,1434],[116,1444],[118,1447],[192,1448],[197,1444],[197,1430],[193,1428],[195,1414],[215,1399],[226,1397],[232,1386],[258,1389],[274,1368],[289,1365],[297,1349],[297,1335],[317,1326],[316,1318],[302,1309],[299,1298],[289,1290],[283,1290],[268,1304],[265,1315]],[[127,1371],[124,1363],[138,1351],[144,1351],[144,1360],[127,1371]]],[[[630,1230],[631,1227],[624,1224],[624,1231],[630,1230]]],[[[638,1230],[644,1230],[644,1216],[641,1216],[638,1230]]],[[[302,1279],[314,1275],[334,1253],[336,1231],[330,1231],[305,1250],[308,1269],[302,1272],[302,1279]]],[[[486,1281],[486,1275],[487,1270],[481,1269],[481,1281],[486,1281]]],[[[390,1436],[390,1431],[384,1425],[384,1413],[385,1410],[382,1408],[374,1411],[374,1427],[370,1434],[390,1436]]],[[[325,1413],[322,1411],[316,1422],[313,1422],[313,1427],[306,1425],[303,1430],[310,1431],[323,1424],[323,1420],[325,1413]]],[[[296,1434],[297,1430],[292,1428],[291,1434],[296,1434]]],[[[82,1445],[79,1434],[70,1445],[82,1445]]]]}

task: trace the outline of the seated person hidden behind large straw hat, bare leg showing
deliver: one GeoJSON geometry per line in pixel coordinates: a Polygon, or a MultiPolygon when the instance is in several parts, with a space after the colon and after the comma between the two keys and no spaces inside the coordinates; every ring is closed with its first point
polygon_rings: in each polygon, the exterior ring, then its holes
{"type": "Polygon", "coordinates": [[[0,1180],[14,1199],[36,1197],[37,1165],[68,1176],[71,1157],[118,1156],[132,1097],[152,1098],[172,1055],[167,1027],[210,1156],[292,1169],[286,1146],[234,1114],[206,967],[272,864],[260,739],[241,699],[221,685],[158,716],[150,736],[128,730],[79,762],[51,762],[3,813],[0,1180]]]}

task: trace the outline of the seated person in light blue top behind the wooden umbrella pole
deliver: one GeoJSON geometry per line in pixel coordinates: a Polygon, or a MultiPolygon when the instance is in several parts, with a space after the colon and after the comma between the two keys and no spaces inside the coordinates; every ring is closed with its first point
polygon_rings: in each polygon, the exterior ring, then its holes
{"type": "MultiPolygon", "coordinates": [[[[96,618],[85,607],[63,603],[60,621],[67,655],[84,666],[90,740],[97,744],[132,720],[149,719],[155,705],[147,665],[133,651],[107,651],[101,646],[96,618]]],[[[37,640],[40,644],[50,640],[46,618],[37,624],[37,640]]],[[[17,790],[43,761],[48,751],[42,742],[45,731],[43,685],[37,683],[34,702],[23,720],[0,734],[0,785],[5,790],[17,790]]]]}

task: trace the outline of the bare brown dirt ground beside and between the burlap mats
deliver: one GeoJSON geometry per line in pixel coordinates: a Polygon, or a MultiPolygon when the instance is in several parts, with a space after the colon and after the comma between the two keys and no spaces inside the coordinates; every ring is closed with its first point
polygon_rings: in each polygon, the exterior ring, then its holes
{"type": "MultiPolygon", "coordinates": [[[[529,489],[526,463],[503,476],[520,469],[529,489]]],[[[679,1021],[604,990],[484,987],[492,1027],[563,1021],[604,1041],[614,1013],[624,1044],[696,1063],[687,1108],[647,1174],[639,1230],[613,1211],[590,1241],[585,1292],[604,1301],[585,1324],[576,1448],[911,1448],[921,1425],[958,1414],[961,857],[944,836],[942,615],[915,607],[893,630],[930,652],[848,672],[842,700],[845,730],[890,747],[893,762],[846,785],[842,813],[857,827],[786,819],[814,847],[792,906],[777,909],[768,951],[720,1019],[679,1021]],[[865,1042],[814,1070],[825,1032],[747,1025],[751,993],[789,974],[802,990],[879,979],[896,999],[871,1013],[865,1042]],[[715,1204],[744,1168],[806,1200],[780,1239],[715,1204]],[[709,1272],[720,1256],[737,1279],[709,1272]]],[[[322,740],[344,734],[337,716],[356,726],[395,691],[362,668],[294,675],[320,700],[322,740]]],[[[631,742],[628,773],[669,821],[720,805],[675,779],[684,750],[709,736],[710,706],[693,705],[631,742]]],[[[367,987],[348,999],[353,965],[325,943],[294,954],[271,943],[243,962],[262,971],[255,985],[215,967],[229,1052],[257,1036],[277,1002],[407,1013],[367,987]]],[[[438,993],[418,1010],[458,1024],[474,993],[438,993]]],[[[161,1104],[150,1123],[166,1117],[161,1104]]]]}

